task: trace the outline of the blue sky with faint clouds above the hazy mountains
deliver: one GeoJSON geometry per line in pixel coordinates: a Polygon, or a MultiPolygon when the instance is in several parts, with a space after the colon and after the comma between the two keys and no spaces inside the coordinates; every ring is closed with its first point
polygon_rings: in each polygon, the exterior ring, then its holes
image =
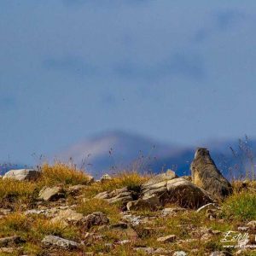
{"type": "Polygon", "coordinates": [[[0,160],[125,130],[256,137],[256,2],[2,0],[0,160]]]}

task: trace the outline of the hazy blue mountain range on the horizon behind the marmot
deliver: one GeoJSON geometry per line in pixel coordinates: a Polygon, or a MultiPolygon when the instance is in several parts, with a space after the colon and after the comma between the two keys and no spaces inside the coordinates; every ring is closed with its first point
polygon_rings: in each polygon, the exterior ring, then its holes
{"type": "Polygon", "coordinates": [[[240,172],[238,169],[247,166],[248,156],[245,154],[250,150],[255,152],[256,141],[245,142],[244,145],[241,143],[240,148],[238,140],[215,140],[185,148],[158,143],[150,138],[123,131],[112,131],[76,143],[59,154],[58,158],[72,158],[78,166],[84,167],[95,177],[105,172],[162,172],[168,168],[176,171],[178,175],[184,175],[189,174],[195,148],[202,146],[210,149],[213,160],[225,176],[229,176],[231,169],[234,172],[234,166],[237,176],[240,172]],[[233,153],[230,147],[234,148],[233,153]]]}

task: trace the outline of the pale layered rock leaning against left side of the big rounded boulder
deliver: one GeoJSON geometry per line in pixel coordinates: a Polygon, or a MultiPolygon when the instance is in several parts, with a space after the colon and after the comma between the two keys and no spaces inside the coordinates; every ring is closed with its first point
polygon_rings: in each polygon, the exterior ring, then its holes
{"type": "Polygon", "coordinates": [[[177,175],[175,172],[168,170],[166,173],[161,173],[150,178],[146,183],[142,185],[142,194],[143,195],[158,195],[160,197],[165,196],[167,193],[166,185],[167,181],[176,178],[177,175]]]}

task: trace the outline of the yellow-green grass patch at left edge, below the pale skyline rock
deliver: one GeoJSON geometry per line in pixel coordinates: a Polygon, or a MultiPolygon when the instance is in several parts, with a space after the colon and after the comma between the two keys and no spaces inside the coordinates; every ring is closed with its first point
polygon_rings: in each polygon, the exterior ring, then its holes
{"type": "Polygon", "coordinates": [[[37,184],[28,181],[17,181],[12,178],[0,179],[0,206],[10,202],[29,203],[37,195],[37,184]]]}

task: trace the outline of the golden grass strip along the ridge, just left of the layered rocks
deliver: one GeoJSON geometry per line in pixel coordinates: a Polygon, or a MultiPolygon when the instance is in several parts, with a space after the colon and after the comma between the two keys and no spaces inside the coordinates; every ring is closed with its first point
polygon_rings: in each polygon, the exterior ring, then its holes
{"type": "Polygon", "coordinates": [[[143,183],[148,180],[148,176],[142,176],[137,172],[120,172],[102,183],[93,183],[85,189],[86,196],[94,196],[103,191],[113,191],[114,189],[127,188],[129,190],[138,191],[143,183]]]}

